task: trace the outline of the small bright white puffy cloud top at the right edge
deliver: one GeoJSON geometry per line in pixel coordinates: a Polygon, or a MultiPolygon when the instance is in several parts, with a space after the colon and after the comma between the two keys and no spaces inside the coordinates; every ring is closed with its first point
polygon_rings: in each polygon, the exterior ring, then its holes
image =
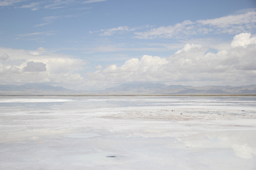
{"type": "Polygon", "coordinates": [[[239,35],[235,35],[231,42],[231,47],[246,47],[246,45],[256,44],[256,37],[250,37],[250,33],[240,33],[239,35]]]}

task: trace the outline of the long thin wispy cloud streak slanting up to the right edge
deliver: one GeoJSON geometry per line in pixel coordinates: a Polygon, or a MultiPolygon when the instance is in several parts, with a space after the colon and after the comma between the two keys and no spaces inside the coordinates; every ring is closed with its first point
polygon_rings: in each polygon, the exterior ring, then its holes
{"type": "Polygon", "coordinates": [[[196,22],[183,21],[175,26],[161,26],[145,32],[134,33],[135,38],[186,38],[191,35],[209,33],[241,33],[256,28],[256,11],[247,11],[238,15],[225,16],[196,22]]]}

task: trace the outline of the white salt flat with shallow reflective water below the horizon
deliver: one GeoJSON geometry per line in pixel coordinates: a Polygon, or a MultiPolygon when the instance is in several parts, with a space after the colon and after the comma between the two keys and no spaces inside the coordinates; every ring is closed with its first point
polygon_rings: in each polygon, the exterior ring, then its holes
{"type": "Polygon", "coordinates": [[[0,169],[256,169],[254,97],[2,97],[0,107],[0,169]]]}

